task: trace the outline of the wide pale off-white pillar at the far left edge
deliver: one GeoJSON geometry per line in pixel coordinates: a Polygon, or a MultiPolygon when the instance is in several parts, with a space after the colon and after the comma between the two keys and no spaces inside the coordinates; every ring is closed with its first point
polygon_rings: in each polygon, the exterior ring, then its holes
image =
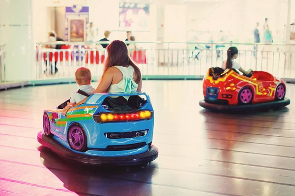
{"type": "Polygon", "coordinates": [[[6,81],[33,79],[33,0],[0,0],[0,43],[5,44],[6,81]]]}

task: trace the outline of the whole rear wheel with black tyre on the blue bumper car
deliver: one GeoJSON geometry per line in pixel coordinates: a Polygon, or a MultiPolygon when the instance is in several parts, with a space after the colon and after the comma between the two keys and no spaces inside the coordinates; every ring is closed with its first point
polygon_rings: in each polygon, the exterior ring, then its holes
{"type": "Polygon", "coordinates": [[[87,150],[87,136],[83,127],[74,123],[70,126],[67,132],[69,146],[73,150],[85,152],[87,150]]]}

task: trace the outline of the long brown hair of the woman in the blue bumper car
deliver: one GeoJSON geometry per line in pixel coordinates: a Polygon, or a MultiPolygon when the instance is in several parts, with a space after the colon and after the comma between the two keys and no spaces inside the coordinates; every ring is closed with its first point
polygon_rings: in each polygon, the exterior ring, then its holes
{"type": "Polygon", "coordinates": [[[103,75],[106,73],[107,69],[114,65],[119,65],[122,67],[132,66],[134,68],[136,77],[134,81],[138,84],[141,81],[140,69],[135,65],[134,61],[129,55],[129,51],[125,42],[120,40],[114,40],[107,47],[108,56],[104,62],[103,75]]]}

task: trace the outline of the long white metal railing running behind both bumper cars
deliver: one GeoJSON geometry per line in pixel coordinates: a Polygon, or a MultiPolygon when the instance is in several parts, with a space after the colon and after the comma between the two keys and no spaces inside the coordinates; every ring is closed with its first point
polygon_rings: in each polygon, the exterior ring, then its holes
{"type": "MultiPolygon", "coordinates": [[[[88,67],[93,76],[100,76],[105,49],[100,44],[110,42],[56,42],[62,49],[42,48],[36,50],[36,77],[74,77],[78,67],[88,67]],[[57,68],[57,69],[56,69],[57,68]],[[58,72],[57,72],[58,71],[58,72]]],[[[152,78],[201,78],[210,67],[221,67],[226,60],[227,49],[236,46],[236,61],[244,69],[263,70],[283,78],[295,78],[291,69],[295,64],[293,45],[283,44],[234,44],[234,43],[135,43],[138,49],[130,50],[144,77],[152,78]]],[[[46,43],[48,44],[48,43],[46,43]]]]}

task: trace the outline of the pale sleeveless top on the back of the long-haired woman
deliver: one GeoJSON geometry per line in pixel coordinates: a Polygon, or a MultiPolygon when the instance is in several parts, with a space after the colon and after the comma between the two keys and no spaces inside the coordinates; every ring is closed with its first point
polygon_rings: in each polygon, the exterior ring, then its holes
{"type": "Polygon", "coordinates": [[[116,68],[121,72],[122,79],[120,81],[114,81],[115,79],[118,80],[119,77],[114,78],[112,84],[110,85],[109,93],[132,93],[132,92],[136,92],[137,88],[138,88],[138,84],[133,79],[134,68],[132,66],[128,66],[128,67],[113,66],[113,68],[116,68]]]}

